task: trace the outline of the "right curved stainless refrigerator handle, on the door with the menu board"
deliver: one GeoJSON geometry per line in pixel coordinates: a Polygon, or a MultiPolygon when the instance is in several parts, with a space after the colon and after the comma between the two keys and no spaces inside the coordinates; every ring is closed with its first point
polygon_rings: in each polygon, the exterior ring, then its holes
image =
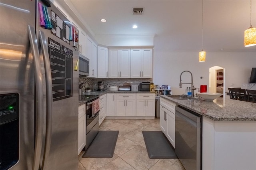
{"type": "Polygon", "coordinates": [[[41,170],[44,170],[44,165],[46,165],[49,152],[50,144],[52,139],[52,74],[50,59],[48,54],[48,43],[44,36],[44,32],[39,30],[39,39],[42,49],[42,54],[44,58],[44,70],[45,70],[45,81],[46,81],[46,136],[45,136],[45,146],[44,146],[44,157],[42,162],[41,170]]]}

